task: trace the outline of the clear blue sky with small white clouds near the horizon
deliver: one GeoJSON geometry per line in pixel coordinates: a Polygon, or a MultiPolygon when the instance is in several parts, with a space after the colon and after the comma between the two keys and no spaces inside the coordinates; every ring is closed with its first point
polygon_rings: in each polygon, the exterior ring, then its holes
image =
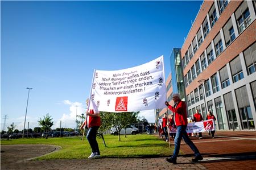
{"type": "MultiPolygon", "coordinates": [[[[75,120],[94,69],[135,67],[181,48],[203,1],[1,1],[1,130],[49,113],[75,120]],[[78,106],[76,108],[76,105],[78,106]]],[[[145,111],[148,121],[154,112],[145,111]]],[[[22,124],[22,123],[21,123],[22,124]]],[[[23,128],[23,126],[22,126],[23,128]]]]}

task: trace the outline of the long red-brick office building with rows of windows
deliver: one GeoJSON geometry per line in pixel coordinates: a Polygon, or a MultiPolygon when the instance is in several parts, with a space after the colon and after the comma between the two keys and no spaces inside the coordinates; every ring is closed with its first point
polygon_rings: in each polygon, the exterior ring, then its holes
{"type": "Polygon", "coordinates": [[[188,117],[217,130],[255,130],[255,1],[204,1],[180,50],[188,117]]]}

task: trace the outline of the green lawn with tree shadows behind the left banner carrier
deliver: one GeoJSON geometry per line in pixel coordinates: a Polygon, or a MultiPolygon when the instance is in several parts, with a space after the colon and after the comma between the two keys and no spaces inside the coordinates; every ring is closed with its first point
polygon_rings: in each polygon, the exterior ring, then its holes
{"type": "MultiPolygon", "coordinates": [[[[171,149],[168,142],[147,134],[137,135],[121,135],[121,141],[118,141],[118,136],[104,135],[106,146],[101,138],[97,138],[101,157],[161,157],[172,154],[174,145],[172,142],[171,149]]],[[[35,138],[35,139],[12,139],[1,140],[1,144],[53,144],[62,148],[52,154],[39,157],[38,160],[46,159],[85,159],[91,149],[88,141],[82,140],[80,137],[73,138],[35,138]]]]}

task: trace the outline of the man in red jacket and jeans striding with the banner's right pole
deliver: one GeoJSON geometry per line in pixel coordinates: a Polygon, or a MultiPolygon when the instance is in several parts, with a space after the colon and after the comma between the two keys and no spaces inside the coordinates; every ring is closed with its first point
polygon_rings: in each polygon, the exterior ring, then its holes
{"type": "Polygon", "coordinates": [[[169,163],[177,164],[177,155],[180,151],[180,142],[181,138],[183,138],[184,142],[188,144],[191,150],[195,153],[195,159],[192,159],[192,162],[197,162],[199,160],[203,160],[203,156],[201,156],[199,150],[195,146],[195,144],[189,139],[186,128],[188,125],[187,119],[187,106],[184,101],[181,101],[180,95],[175,93],[172,97],[175,105],[169,105],[168,101],[165,102],[165,105],[174,112],[174,123],[177,127],[176,136],[174,139],[174,153],[171,157],[168,157],[166,160],[169,163]]]}

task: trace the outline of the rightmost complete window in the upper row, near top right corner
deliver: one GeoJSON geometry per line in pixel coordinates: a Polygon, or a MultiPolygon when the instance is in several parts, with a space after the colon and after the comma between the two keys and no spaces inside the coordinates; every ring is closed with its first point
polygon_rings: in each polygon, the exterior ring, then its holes
{"type": "Polygon", "coordinates": [[[235,15],[237,18],[238,30],[239,33],[241,33],[251,23],[251,15],[246,1],[243,1],[240,7],[236,10],[235,15]]]}

